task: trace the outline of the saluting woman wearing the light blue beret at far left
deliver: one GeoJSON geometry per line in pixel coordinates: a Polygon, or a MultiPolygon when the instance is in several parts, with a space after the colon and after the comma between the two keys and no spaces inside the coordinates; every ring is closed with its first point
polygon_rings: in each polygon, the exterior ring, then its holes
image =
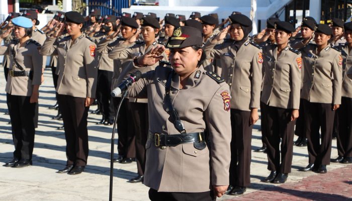
{"type": "Polygon", "coordinates": [[[40,44],[30,39],[32,22],[20,16],[12,19],[12,23],[14,27],[0,36],[3,40],[14,31],[17,38],[9,45],[0,47],[1,55],[10,55],[6,92],[15,145],[13,159],[4,166],[26,167],[32,165],[35,109],[38,104],[43,56],[39,54],[40,44]]]}

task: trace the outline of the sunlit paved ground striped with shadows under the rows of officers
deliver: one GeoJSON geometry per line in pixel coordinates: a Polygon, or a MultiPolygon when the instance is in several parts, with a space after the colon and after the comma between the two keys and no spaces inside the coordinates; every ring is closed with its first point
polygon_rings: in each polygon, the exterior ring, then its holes
{"type": "MultiPolygon", "coordinates": [[[[86,171],[80,175],[57,174],[65,165],[63,131],[56,130],[61,121],[51,120],[57,111],[47,109],[55,104],[51,71],[44,73],[40,87],[39,127],[36,129],[33,166],[26,168],[2,167],[11,159],[12,143],[10,117],[7,111],[5,79],[0,68],[0,200],[108,200],[110,173],[110,142],[112,126],[98,126],[98,115],[89,115],[90,156],[86,171]],[[16,193],[14,191],[17,190],[16,193]]],[[[91,107],[95,110],[96,106],[91,107]]],[[[252,150],[261,146],[260,121],[255,125],[252,150]]],[[[336,141],[332,142],[332,157],[337,155],[336,141]]],[[[116,150],[116,149],[115,149],[116,150]]],[[[274,185],[260,182],[269,175],[266,154],[252,152],[251,186],[239,197],[225,195],[218,200],[344,200],[352,196],[351,165],[331,164],[327,174],[299,172],[308,161],[306,147],[294,147],[292,173],[287,183],[274,185]],[[336,174],[333,174],[335,172],[336,174]]],[[[148,188],[141,183],[128,183],[136,176],[136,163],[116,164],[114,169],[114,200],[148,200],[148,188]]]]}

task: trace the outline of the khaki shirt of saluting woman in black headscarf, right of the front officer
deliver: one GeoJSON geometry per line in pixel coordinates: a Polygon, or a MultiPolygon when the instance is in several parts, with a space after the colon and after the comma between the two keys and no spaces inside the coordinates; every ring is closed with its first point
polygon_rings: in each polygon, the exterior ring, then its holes
{"type": "Polygon", "coordinates": [[[247,40],[236,52],[233,44],[233,40],[218,45],[208,41],[203,48],[207,59],[221,60],[221,77],[230,86],[231,108],[250,111],[260,104],[261,49],[247,40]]]}

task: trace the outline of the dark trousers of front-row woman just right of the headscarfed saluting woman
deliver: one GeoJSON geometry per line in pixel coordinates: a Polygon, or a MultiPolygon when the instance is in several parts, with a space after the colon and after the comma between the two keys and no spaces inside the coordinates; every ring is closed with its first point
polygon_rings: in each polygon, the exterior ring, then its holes
{"type": "Polygon", "coordinates": [[[277,108],[266,104],[263,106],[261,114],[265,117],[262,124],[265,124],[267,129],[264,137],[268,147],[268,169],[280,173],[290,173],[296,124],[296,121],[291,121],[292,109],[277,108]],[[280,140],[282,140],[281,146],[280,140]]]}

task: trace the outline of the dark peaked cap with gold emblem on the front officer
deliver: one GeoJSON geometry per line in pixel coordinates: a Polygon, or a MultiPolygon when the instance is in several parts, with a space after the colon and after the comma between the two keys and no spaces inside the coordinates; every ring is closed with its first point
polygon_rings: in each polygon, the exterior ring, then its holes
{"type": "Polygon", "coordinates": [[[185,48],[194,45],[203,45],[202,32],[194,27],[182,26],[173,31],[166,48],[185,48]]]}

